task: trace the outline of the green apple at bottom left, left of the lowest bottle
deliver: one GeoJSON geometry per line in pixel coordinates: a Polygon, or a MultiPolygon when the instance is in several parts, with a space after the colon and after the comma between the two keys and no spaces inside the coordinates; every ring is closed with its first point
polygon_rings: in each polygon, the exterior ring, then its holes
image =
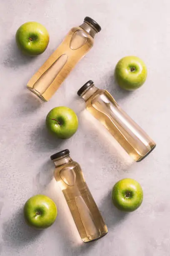
{"type": "Polygon", "coordinates": [[[57,206],[50,197],[35,195],[24,205],[26,223],[34,228],[48,228],[57,217],[57,206]]]}

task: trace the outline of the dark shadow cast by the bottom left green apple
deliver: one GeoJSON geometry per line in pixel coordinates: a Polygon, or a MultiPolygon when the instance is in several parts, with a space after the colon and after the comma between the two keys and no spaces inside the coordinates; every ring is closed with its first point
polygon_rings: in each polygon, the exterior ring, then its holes
{"type": "Polygon", "coordinates": [[[25,223],[23,209],[2,225],[2,241],[12,246],[24,246],[35,240],[41,233],[42,230],[31,228],[25,223]]]}

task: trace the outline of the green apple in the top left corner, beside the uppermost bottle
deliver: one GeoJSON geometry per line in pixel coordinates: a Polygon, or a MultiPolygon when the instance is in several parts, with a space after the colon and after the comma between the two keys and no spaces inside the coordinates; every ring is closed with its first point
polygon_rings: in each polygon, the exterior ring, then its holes
{"type": "Polygon", "coordinates": [[[35,21],[26,22],[20,26],[15,38],[18,48],[28,56],[42,54],[49,43],[47,29],[35,21]]]}

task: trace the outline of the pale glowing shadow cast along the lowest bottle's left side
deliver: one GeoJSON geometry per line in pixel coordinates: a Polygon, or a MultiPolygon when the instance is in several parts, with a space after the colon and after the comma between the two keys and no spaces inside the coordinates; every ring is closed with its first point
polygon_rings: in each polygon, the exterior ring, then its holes
{"type": "Polygon", "coordinates": [[[62,246],[63,255],[86,255],[87,251],[93,248],[97,241],[86,244],[82,242],[65,197],[55,178],[46,187],[45,195],[54,200],[57,205],[58,215],[54,228],[60,233],[57,239],[60,246],[62,246]]]}

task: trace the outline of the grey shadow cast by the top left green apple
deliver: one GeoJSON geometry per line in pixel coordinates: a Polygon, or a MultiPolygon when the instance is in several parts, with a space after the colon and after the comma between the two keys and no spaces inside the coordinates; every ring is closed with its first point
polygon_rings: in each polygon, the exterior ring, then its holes
{"type": "Polygon", "coordinates": [[[17,69],[20,66],[26,65],[30,63],[30,61],[35,60],[35,57],[22,54],[16,44],[15,36],[13,36],[12,40],[7,44],[7,48],[5,47],[4,52],[5,58],[3,59],[2,64],[11,69],[17,69]]]}

